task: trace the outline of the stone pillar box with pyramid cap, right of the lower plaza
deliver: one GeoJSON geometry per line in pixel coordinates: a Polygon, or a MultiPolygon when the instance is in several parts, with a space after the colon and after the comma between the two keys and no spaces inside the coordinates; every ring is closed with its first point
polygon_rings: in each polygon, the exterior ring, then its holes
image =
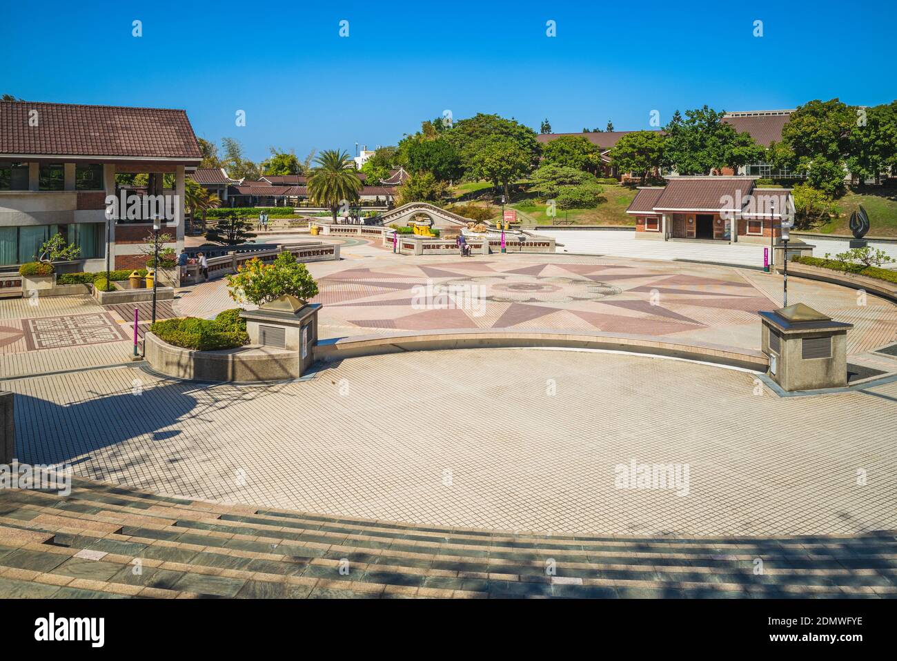
{"type": "Polygon", "coordinates": [[[832,321],[803,303],[762,311],[760,317],[769,375],[784,390],[847,386],[847,332],[853,324],[832,321]]]}

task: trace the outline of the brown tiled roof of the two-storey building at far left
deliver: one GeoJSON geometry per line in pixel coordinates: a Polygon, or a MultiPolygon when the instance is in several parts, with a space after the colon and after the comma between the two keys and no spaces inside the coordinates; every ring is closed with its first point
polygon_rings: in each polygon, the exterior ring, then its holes
{"type": "Polygon", "coordinates": [[[200,160],[184,110],[0,101],[0,153],[200,160]],[[29,126],[37,110],[38,126],[29,126]]]}

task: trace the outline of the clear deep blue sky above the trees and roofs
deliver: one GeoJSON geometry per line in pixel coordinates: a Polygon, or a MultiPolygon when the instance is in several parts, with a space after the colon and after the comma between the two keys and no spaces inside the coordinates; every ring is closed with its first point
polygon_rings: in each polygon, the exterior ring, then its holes
{"type": "Polygon", "coordinates": [[[0,92],[187,109],[196,135],[235,137],[254,160],[269,145],[301,158],[312,147],[396,144],[444,109],[536,130],[548,117],[572,132],[609,117],[618,130],[647,128],[652,109],[666,123],[704,103],[897,97],[892,0],[2,4],[0,92]]]}

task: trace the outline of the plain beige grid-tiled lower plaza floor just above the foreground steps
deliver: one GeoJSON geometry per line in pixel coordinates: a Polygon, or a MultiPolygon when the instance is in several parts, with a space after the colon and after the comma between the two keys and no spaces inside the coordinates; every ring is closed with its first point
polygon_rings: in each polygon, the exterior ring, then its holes
{"type": "Polygon", "coordinates": [[[897,528],[897,383],[779,398],[735,370],[506,349],[353,359],[271,387],[135,369],[7,386],[22,460],[190,498],[555,532],[897,528]],[[617,488],[631,462],[688,465],[687,494],[617,488]]]}

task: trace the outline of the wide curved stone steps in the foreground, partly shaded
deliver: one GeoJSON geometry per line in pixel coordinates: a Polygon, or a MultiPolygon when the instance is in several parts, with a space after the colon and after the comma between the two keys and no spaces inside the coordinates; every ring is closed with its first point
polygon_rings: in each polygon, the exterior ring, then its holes
{"type": "Polygon", "coordinates": [[[74,480],[0,490],[0,597],[890,597],[894,535],[515,534],[74,480]]]}

